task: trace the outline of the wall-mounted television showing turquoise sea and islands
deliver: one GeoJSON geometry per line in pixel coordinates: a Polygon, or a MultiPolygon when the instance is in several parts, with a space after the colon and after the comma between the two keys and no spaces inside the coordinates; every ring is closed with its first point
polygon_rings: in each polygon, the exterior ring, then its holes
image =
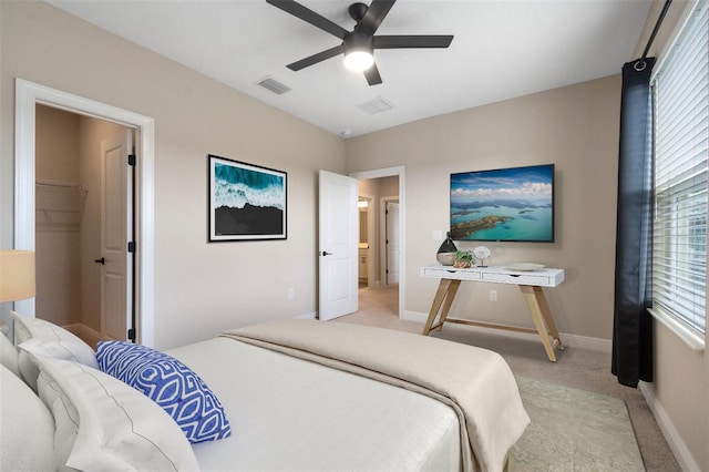
{"type": "Polygon", "coordinates": [[[454,240],[554,242],[554,164],[451,174],[454,240]]]}

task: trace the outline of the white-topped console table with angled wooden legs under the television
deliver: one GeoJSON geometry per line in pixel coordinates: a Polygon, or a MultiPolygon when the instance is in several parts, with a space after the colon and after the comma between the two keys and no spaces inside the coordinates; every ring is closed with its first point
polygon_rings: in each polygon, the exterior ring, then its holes
{"type": "Polygon", "coordinates": [[[428,336],[434,329],[440,329],[444,322],[458,322],[462,325],[481,326],[484,328],[506,329],[512,331],[538,334],[542,345],[552,362],[556,362],[554,348],[564,349],[558,331],[554,324],[554,318],[549,311],[549,306],[544,297],[543,287],[556,287],[564,281],[563,269],[538,269],[533,271],[508,270],[502,266],[471,267],[467,269],[456,269],[452,266],[424,266],[421,267],[421,277],[441,279],[439,289],[435,293],[429,318],[427,319],[423,335],[428,336]],[[536,330],[516,326],[495,325],[490,322],[473,321],[467,319],[449,318],[455,294],[461,281],[485,281],[491,284],[511,284],[520,287],[532,315],[532,321],[536,330]],[[440,311],[439,322],[434,325],[440,311]],[[552,340],[549,341],[549,337],[552,340]]]}

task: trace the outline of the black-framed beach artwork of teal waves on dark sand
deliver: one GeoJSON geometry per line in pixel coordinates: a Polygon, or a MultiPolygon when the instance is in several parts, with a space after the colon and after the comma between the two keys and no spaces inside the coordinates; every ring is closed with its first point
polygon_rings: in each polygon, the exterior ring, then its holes
{"type": "Polygon", "coordinates": [[[209,243],[287,237],[287,174],[208,155],[209,243]]]}

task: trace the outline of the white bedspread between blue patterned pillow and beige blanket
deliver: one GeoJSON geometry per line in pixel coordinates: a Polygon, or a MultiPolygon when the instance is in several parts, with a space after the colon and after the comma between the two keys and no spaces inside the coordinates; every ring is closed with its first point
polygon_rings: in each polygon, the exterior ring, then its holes
{"type": "Polygon", "coordinates": [[[169,350],[217,394],[225,440],[194,444],[203,471],[456,471],[455,412],[436,400],[217,338],[169,350]]]}

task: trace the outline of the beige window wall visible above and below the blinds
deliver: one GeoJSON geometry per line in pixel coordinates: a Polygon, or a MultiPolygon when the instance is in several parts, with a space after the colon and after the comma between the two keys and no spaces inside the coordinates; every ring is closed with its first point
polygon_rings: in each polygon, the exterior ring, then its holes
{"type": "MultiPolygon", "coordinates": [[[[635,57],[640,57],[655,27],[664,1],[654,1],[635,57]]],[[[648,55],[657,68],[671,45],[693,1],[672,2],[648,55]]],[[[709,311],[707,312],[709,318],[709,311]]],[[[706,337],[709,345],[709,336],[706,337]]],[[[669,417],[680,442],[691,455],[685,466],[709,471],[709,352],[695,352],[662,324],[655,321],[655,381],[650,386],[659,408],[669,417]]],[[[670,439],[671,443],[671,439],[670,439]]],[[[671,445],[671,444],[670,444],[671,445]]],[[[676,455],[678,451],[675,451],[676,455]]],[[[679,451],[681,453],[681,451],[679,451]]]]}

